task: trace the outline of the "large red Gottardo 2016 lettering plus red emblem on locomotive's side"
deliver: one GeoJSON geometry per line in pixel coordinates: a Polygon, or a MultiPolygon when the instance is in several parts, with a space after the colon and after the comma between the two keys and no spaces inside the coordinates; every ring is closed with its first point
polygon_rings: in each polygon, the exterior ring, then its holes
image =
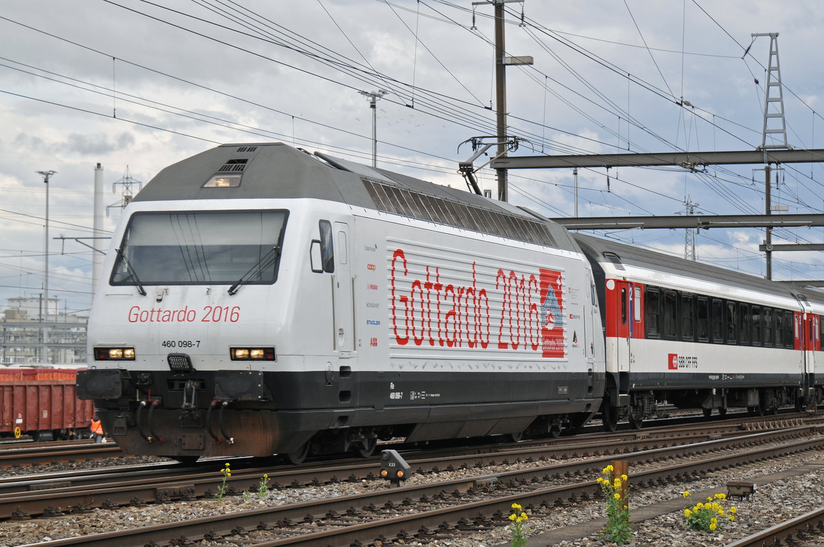
{"type": "Polygon", "coordinates": [[[390,336],[396,344],[471,349],[492,344],[564,358],[564,287],[559,271],[492,269],[481,276],[490,281],[480,283],[473,261],[466,263],[462,274],[471,276],[471,283],[459,285],[441,283],[439,266],[423,268],[425,275],[414,278],[404,250],[392,255],[390,336]]]}

